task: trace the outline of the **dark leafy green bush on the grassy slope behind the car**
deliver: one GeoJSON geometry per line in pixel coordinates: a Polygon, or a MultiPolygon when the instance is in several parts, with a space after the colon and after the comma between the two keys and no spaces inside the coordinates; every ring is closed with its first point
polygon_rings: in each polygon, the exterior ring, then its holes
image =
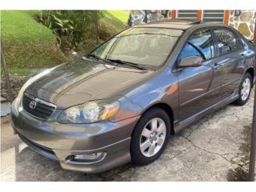
{"type": "MultiPolygon", "coordinates": [[[[98,18],[102,13],[98,11],[98,18]]],[[[94,10],[42,10],[38,21],[50,28],[62,50],[77,50],[86,36],[93,36],[94,10]]]]}

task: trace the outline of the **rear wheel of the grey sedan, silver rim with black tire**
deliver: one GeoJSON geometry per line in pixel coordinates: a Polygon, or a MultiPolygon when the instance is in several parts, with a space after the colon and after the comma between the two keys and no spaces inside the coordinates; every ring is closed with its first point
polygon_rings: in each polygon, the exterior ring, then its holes
{"type": "Polygon", "coordinates": [[[249,73],[246,73],[244,78],[242,78],[242,82],[239,86],[239,98],[234,102],[235,105],[243,106],[248,102],[250,98],[250,92],[253,85],[253,80],[249,73]]]}

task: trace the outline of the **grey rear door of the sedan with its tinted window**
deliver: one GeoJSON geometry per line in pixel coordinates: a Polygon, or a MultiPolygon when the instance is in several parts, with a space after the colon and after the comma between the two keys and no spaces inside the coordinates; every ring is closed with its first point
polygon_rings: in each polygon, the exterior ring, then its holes
{"type": "Polygon", "coordinates": [[[218,48],[218,66],[222,75],[222,99],[227,98],[238,90],[245,70],[244,49],[241,39],[226,27],[214,29],[214,38],[218,48]]]}

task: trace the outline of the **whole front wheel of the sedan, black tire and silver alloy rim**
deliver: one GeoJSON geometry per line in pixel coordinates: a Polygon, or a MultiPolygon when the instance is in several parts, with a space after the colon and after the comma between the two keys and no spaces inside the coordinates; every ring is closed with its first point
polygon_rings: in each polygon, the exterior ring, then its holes
{"type": "Polygon", "coordinates": [[[170,118],[154,107],[142,115],[132,134],[130,154],[135,165],[144,166],[158,159],[170,136],[170,118]]]}

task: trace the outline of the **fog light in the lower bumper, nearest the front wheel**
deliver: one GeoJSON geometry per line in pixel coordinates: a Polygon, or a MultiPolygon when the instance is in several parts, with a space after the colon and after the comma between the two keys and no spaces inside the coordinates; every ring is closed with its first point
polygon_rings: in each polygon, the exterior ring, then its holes
{"type": "Polygon", "coordinates": [[[94,163],[100,162],[106,157],[106,153],[100,152],[95,154],[74,154],[66,158],[66,162],[69,163],[94,163]]]}

